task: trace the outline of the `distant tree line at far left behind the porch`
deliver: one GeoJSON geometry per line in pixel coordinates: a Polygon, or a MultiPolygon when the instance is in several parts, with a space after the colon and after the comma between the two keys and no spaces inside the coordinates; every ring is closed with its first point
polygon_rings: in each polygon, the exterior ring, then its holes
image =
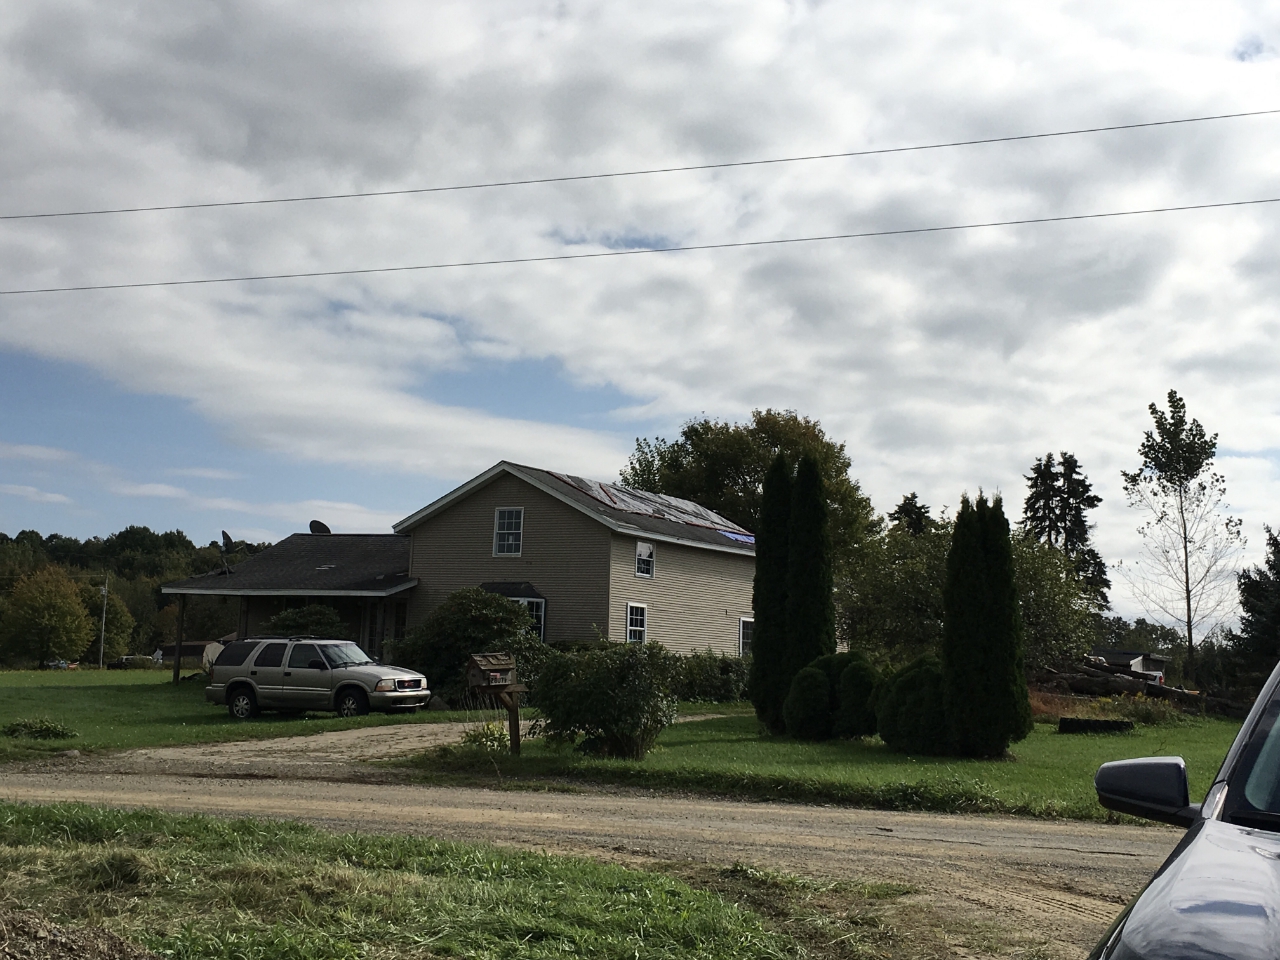
{"type": "MultiPolygon", "coordinates": [[[[234,541],[197,547],[180,530],[129,526],[79,540],[36,530],[0,532],[0,662],[97,662],[151,653],[177,634],[177,600],[160,593],[173,580],[207,573],[265,549],[234,541]],[[105,594],[104,594],[105,588],[105,594]],[[105,618],[104,618],[105,598],[105,618]]],[[[206,640],[236,628],[223,598],[192,598],[187,636],[206,640]]]]}

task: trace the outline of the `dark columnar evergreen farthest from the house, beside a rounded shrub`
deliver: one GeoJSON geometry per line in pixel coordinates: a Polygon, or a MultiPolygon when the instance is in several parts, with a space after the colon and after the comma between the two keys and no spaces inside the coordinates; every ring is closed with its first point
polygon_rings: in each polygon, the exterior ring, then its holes
{"type": "Polygon", "coordinates": [[[951,748],[1000,756],[1030,732],[1014,554],[1000,497],[960,502],[943,591],[942,687],[951,748]]]}

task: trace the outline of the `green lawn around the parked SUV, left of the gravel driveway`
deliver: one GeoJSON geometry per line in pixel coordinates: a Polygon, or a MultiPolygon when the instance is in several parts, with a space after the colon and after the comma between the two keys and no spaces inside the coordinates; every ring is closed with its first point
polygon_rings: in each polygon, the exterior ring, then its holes
{"type": "MultiPolygon", "coordinates": [[[[420,710],[339,719],[314,713],[266,713],[233,721],[225,707],[205,700],[202,681],[174,686],[166,671],[0,671],[0,728],[19,719],[47,718],[77,731],[76,739],[28,740],[0,736],[0,763],[35,759],[60,750],[81,751],[209,744],[228,740],[319,733],[387,723],[493,719],[495,712],[420,710]]],[[[503,718],[506,713],[500,714],[503,718]]]]}

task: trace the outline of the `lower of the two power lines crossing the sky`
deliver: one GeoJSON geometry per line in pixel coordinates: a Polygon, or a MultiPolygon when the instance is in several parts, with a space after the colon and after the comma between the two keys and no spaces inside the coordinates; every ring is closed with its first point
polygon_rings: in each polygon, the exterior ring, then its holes
{"type": "Polygon", "coordinates": [[[255,274],[247,276],[209,276],[195,280],[145,280],[138,283],[92,283],[76,287],[32,287],[27,289],[0,291],[0,297],[35,293],[78,293],[83,291],[125,291],[147,287],[196,287],[216,283],[248,283],[251,280],[305,280],[319,276],[361,276],[367,274],[396,274],[420,270],[453,270],[470,266],[503,266],[509,264],[547,264],[556,260],[600,260],[604,257],[641,256],[645,253],[687,253],[699,250],[737,250],[742,247],[778,247],[788,243],[823,243],[841,239],[869,239],[873,237],[905,237],[918,233],[952,233],[957,230],[978,230],[988,227],[1023,227],[1041,223],[1068,223],[1070,220],[1103,220],[1116,216],[1140,216],[1144,214],[1179,214],[1192,210],[1221,210],[1225,207],[1258,206],[1280,204],[1280,197],[1263,200],[1229,200],[1219,204],[1187,204],[1183,206],[1157,206],[1143,210],[1112,210],[1102,214],[1069,214],[1064,216],[1032,216],[1019,220],[988,220],[986,223],[948,224],[945,227],[909,227],[896,230],[864,230],[860,233],[831,233],[818,237],[783,237],[764,241],[731,241],[726,243],[691,243],[680,247],[640,247],[636,250],[604,250],[593,253],[552,253],[536,257],[504,257],[500,260],[458,260],[444,264],[416,264],[412,266],[367,266],[353,270],[308,270],[292,274],[255,274]]]}

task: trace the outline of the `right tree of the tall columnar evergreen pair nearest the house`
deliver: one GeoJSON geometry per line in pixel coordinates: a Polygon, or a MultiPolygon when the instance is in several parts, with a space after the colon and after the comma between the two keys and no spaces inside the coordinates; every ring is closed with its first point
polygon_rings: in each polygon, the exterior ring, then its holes
{"type": "Polygon", "coordinates": [[[836,603],[827,498],[817,461],[805,454],[791,488],[787,561],[787,686],[823,654],[836,652],[836,603]]]}

